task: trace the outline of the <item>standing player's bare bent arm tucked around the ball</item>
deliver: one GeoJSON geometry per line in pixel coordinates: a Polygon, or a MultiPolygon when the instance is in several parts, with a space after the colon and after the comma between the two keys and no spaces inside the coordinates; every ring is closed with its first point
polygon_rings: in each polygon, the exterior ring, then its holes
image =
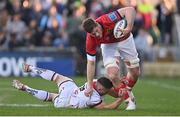
{"type": "Polygon", "coordinates": [[[122,17],[125,17],[127,20],[127,28],[132,30],[134,25],[134,19],[136,16],[136,11],[133,7],[125,7],[118,10],[122,17]]]}

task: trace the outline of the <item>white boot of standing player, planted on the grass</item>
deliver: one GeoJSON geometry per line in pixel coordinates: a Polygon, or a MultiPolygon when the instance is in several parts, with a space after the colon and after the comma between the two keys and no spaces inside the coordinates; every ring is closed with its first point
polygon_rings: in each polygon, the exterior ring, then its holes
{"type": "Polygon", "coordinates": [[[129,93],[129,98],[125,100],[125,102],[127,103],[126,110],[127,111],[136,110],[135,97],[132,91],[128,91],[128,93],[129,93]]]}

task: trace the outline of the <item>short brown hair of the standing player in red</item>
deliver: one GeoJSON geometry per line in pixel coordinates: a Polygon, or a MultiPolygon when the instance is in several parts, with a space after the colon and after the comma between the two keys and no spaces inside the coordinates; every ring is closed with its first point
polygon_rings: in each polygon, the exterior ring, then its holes
{"type": "Polygon", "coordinates": [[[86,18],[82,23],[83,29],[88,33],[91,33],[96,26],[97,23],[92,18],[86,18]]]}

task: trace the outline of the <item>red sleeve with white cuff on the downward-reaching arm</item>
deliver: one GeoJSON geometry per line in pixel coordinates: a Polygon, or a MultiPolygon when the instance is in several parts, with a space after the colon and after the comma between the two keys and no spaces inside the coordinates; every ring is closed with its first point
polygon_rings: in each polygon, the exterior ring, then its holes
{"type": "Polygon", "coordinates": [[[86,54],[87,59],[90,61],[96,60],[96,40],[90,36],[90,34],[87,34],[86,37],[86,54]]]}

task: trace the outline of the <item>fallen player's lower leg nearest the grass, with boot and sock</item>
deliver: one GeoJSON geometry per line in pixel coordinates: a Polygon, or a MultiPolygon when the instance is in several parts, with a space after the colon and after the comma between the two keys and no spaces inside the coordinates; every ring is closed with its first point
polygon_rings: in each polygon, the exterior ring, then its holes
{"type": "Polygon", "coordinates": [[[13,80],[12,86],[20,91],[27,92],[39,100],[43,101],[54,101],[54,99],[59,95],[56,93],[49,93],[47,91],[33,89],[27,85],[24,85],[19,80],[13,80]]]}

